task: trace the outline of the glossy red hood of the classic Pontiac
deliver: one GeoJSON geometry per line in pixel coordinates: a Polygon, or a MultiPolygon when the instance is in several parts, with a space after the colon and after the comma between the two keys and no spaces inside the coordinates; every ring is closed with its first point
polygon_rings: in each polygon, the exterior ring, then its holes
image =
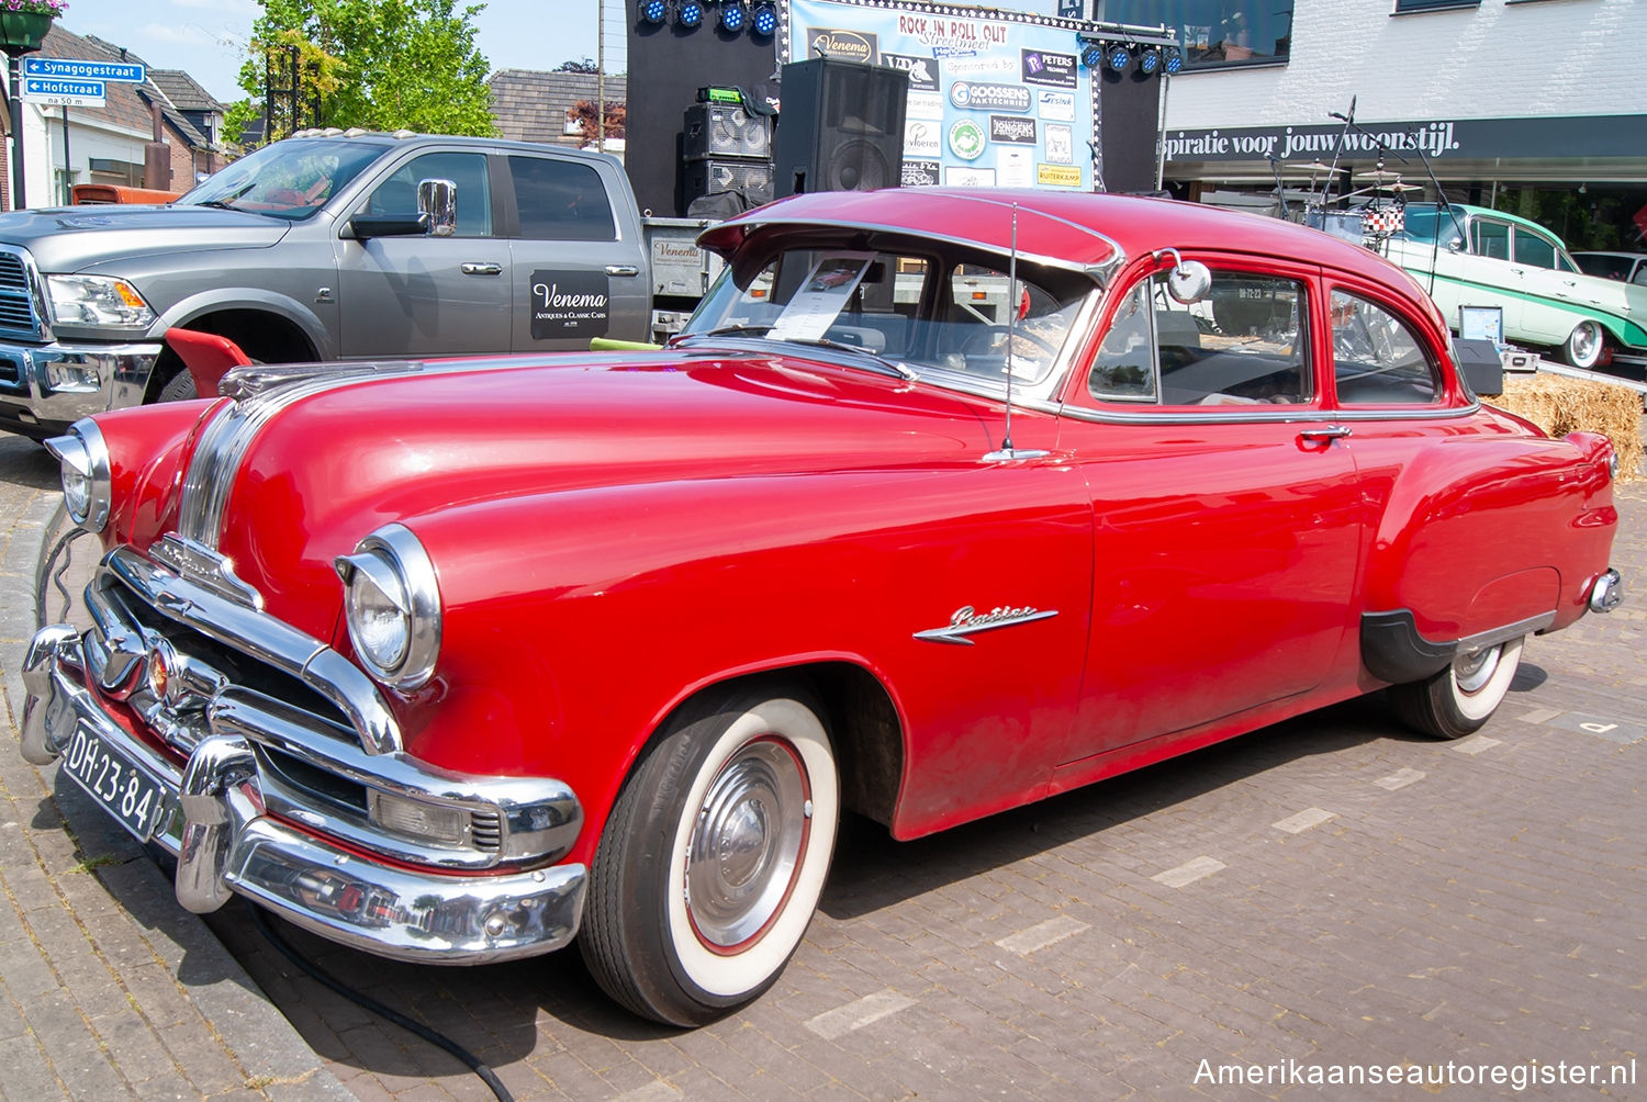
{"type": "MultiPolygon", "coordinates": [[[[333,560],[389,522],[415,530],[464,504],[636,483],[690,493],[708,478],[975,466],[1000,432],[985,399],[812,361],[685,353],[352,374],[270,389],[244,400],[254,409],[244,420],[260,427],[237,469],[211,473],[232,479],[219,547],[272,613],[321,639],[338,626],[333,560]]],[[[189,479],[204,471],[196,460],[189,479]]]]}

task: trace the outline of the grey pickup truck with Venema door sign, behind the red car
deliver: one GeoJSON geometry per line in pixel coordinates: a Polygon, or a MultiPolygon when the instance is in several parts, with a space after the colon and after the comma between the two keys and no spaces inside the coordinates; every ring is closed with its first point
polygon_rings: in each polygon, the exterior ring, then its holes
{"type": "Polygon", "coordinates": [[[0,428],[193,397],[171,326],[262,362],[588,348],[647,339],[652,290],[611,156],[311,132],[175,204],[0,216],[0,428]]]}

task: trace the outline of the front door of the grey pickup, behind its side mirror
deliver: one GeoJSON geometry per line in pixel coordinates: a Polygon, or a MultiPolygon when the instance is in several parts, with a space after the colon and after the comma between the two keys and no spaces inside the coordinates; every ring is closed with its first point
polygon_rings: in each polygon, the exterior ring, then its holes
{"type": "Polygon", "coordinates": [[[395,165],[349,211],[415,214],[418,181],[456,184],[451,236],[338,242],[346,357],[509,351],[509,242],[496,232],[491,176],[484,152],[430,150],[395,165]]]}

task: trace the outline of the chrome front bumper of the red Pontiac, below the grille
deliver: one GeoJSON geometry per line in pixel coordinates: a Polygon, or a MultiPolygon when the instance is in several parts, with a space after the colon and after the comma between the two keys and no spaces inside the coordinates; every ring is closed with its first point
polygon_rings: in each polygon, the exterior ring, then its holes
{"type": "MultiPolygon", "coordinates": [[[[51,764],[76,730],[124,753],[165,794],[153,842],[178,858],[176,894],[184,908],[212,911],[236,893],[321,937],[430,964],[534,955],[560,949],[578,932],[583,865],[440,873],[344,850],[265,812],[244,728],[229,733],[214,723],[180,771],[102,710],[84,685],[84,669],[72,628],[53,624],[35,636],[23,662],[23,756],[51,764]]],[[[407,761],[400,758],[402,771],[407,761]]],[[[451,782],[446,774],[430,779],[432,787],[451,782]]],[[[560,791],[555,781],[545,786],[560,791]]]]}

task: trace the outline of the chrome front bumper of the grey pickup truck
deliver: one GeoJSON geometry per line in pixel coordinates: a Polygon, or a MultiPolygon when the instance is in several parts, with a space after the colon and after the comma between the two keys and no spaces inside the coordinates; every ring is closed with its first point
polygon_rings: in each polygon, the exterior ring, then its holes
{"type": "Polygon", "coordinates": [[[91,413],[142,405],[160,349],[158,341],[0,341],[0,427],[30,435],[54,435],[91,413]]]}

